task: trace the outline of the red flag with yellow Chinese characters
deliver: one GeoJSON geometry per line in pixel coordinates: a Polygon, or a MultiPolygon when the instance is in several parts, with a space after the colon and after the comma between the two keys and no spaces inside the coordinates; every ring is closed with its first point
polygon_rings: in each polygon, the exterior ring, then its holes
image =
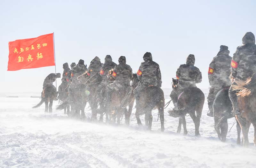
{"type": "Polygon", "coordinates": [[[53,33],[9,42],[7,71],[55,65],[53,33]]]}

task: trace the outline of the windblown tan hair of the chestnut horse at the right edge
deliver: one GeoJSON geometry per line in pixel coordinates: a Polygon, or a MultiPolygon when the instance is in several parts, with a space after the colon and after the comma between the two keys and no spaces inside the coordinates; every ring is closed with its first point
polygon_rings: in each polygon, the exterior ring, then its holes
{"type": "Polygon", "coordinates": [[[256,86],[256,75],[253,74],[252,77],[247,78],[245,81],[236,79],[234,85],[232,85],[232,90],[238,91],[237,96],[245,97],[252,94],[252,91],[256,86]]]}

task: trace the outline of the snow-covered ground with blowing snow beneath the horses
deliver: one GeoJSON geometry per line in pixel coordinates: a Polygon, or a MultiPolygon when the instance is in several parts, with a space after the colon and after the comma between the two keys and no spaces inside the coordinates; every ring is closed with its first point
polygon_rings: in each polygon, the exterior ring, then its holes
{"type": "MultiPolygon", "coordinates": [[[[165,132],[160,133],[156,111],[153,131],[145,131],[138,129],[134,114],[130,126],[110,126],[69,119],[63,111],[44,114],[43,105],[31,108],[38,102],[39,98],[0,97],[1,168],[256,167],[252,126],[248,148],[236,145],[236,126],[228,133],[227,142],[220,142],[213,118],[206,116],[207,103],[201,118],[201,137],[195,137],[189,116],[188,135],[176,134],[178,118],[169,117],[168,109],[165,132]]],[[[90,115],[86,108],[86,116],[90,115]]],[[[144,116],[141,119],[144,121],[144,116]]],[[[229,128],[233,122],[234,118],[229,119],[229,128]]]]}

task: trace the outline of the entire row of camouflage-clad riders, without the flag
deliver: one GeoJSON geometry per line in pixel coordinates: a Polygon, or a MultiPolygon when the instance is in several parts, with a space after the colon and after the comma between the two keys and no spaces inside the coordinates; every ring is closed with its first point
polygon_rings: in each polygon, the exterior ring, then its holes
{"type": "MultiPolygon", "coordinates": [[[[242,42],[243,44],[237,47],[233,57],[229,56],[228,47],[221,45],[220,51],[217,56],[212,59],[212,62],[209,65],[208,79],[211,88],[207,97],[209,107],[208,116],[214,116],[214,100],[219,94],[218,92],[223,89],[229,90],[228,95],[232,103],[231,108],[233,109],[230,115],[233,114],[234,116],[235,114],[241,113],[241,111],[236,108],[237,91],[232,89],[232,86],[236,85],[236,80],[246,80],[247,78],[252,77],[256,72],[256,45],[254,34],[252,34],[252,32],[247,32],[244,35],[242,42]]],[[[63,64],[64,71],[61,79],[62,83],[59,86],[58,98],[63,101],[64,97],[66,97],[66,100],[68,100],[69,103],[79,101],[76,99],[81,99],[81,96],[76,95],[75,97],[72,97],[72,92],[79,87],[80,90],[85,90],[85,92],[83,91],[81,94],[84,94],[87,102],[90,102],[89,100],[93,99],[93,101],[97,103],[104,101],[105,104],[110,104],[113,103],[113,93],[118,93],[119,95],[123,95],[119,97],[123,99],[120,100],[122,104],[124,99],[134,94],[136,111],[137,109],[146,107],[142,105],[146,100],[144,100],[144,97],[142,98],[141,95],[143,95],[145,89],[148,87],[161,88],[162,79],[159,65],[153,61],[150,52],[144,54],[143,60],[144,61],[141,63],[137,74],[132,73],[132,68],[130,65],[126,64],[126,58],[124,56],[119,57],[118,65],[112,61],[110,55],[105,57],[104,64],[101,63],[99,57],[95,57],[88,68],[87,65],[84,65],[84,60],[82,59],[79,60],[77,65],[72,63],[70,65],[71,69],[68,67],[68,63],[65,63],[63,64]],[[87,79],[82,82],[83,84],[81,84],[81,75],[85,75],[87,79]],[[97,77],[95,77],[95,75],[97,77]],[[101,77],[101,80],[98,80],[98,76],[101,77]],[[136,80],[134,80],[135,78],[136,80]],[[92,79],[93,81],[95,80],[96,83],[93,83],[92,79]],[[92,96],[92,89],[90,89],[90,85],[92,84],[97,84],[94,97],[92,96]]],[[[174,105],[172,111],[174,112],[180,110],[178,102],[180,93],[186,89],[189,90],[189,88],[196,88],[196,84],[202,81],[202,74],[194,64],[195,56],[189,54],[186,59],[186,64],[180,65],[176,71],[176,79],[173,79],[175,84],[173,84],[173,90],[170,94],[174,105]]],[[[58,77],[60,77],[60,73],[49,74],[44,80],[43,89],[50,86],[56,90],[52,82],[58,77]]],[[[56,96],[57,94],[55,95],[55,99],[56,96]]],[[[82,99],[84,99],[83,96],[82,99]]],[[[159,101],[164,100],[159,99],[159,101]]],[[[83,102],[83,100],[81,102],[83,102]]]]}

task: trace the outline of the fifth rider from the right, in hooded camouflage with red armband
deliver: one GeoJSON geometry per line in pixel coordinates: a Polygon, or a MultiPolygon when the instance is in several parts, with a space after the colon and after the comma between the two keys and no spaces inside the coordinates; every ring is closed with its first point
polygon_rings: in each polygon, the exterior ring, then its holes
{"type": "Polygon", "coordinates": [[[124,56],[119,57],[118,65],[115,66],[112,77],[115,81],[107,86],[107,103],[111,102],[112,93],[114,91],[127,92],[131,90],[132,68],[126,64],[124,56]]]}

